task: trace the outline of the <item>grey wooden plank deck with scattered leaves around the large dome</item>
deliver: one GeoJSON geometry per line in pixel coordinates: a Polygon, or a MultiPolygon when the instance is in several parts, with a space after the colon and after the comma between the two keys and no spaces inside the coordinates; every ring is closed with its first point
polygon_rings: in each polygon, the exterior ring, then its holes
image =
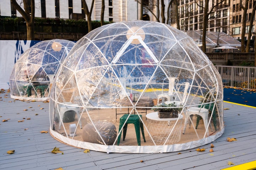
{"type": "Polygon", "coordinates": [[[229,108],[224,110],[225,132],[213,142],[212,153],[207,144],[201,147],[207,148],[204,152],[197,152],[195,148],[161,154],[107,154],[92,150],[84,153],[84,149],[56,141],[49,133],[40,133],[49,129],[48,103],[14,101],[9,93],[1,93],[0,97],[0,169],[4,170],[54,170],[60,167],[64,170],[220,170],[234,166],[228,165],[228,161],[239,165],[256,160],[255,108],[224,103],[224,108],[229,108]],[[4,119],[8,121],[2,122],[4,119]],[[238,141],[226,142],[227,137],[238,141]],[[64,154],[51,153],[54,147],[64,154]],[[15,150],[15,153],[7,154],[8,150],[15,150]]]}

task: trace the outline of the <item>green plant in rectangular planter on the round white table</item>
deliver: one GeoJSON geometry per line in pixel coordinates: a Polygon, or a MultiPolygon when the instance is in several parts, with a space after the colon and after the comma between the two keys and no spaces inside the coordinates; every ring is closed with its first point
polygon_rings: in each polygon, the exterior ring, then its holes
{"type": "Polygon", "coordinates": [[[178,112],[182,110],[182,108],[175,108],[177,105],[174,103],[165,104],[161,103],[153,106],[152,110],[158,111],[158,117],[162,118],[177,118],[178,112]]]}

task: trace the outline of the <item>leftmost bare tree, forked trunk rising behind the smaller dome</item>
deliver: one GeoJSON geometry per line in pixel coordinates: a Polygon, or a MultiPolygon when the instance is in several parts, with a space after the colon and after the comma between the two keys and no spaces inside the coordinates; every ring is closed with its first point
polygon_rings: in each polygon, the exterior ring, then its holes
{"type": "Polygon", "coordinates": [[[24,10],[17,3],[16,0],[11,0],[11,4],[15,7],[15,9],[18,12],[20,12],[21,16],[26,21],[27,40],[34,40],[34,13],[35,13],[34,0],[23,0],[24,10]],[[31,8],[31,11],[30,11],[30,8],[31,8]]]}

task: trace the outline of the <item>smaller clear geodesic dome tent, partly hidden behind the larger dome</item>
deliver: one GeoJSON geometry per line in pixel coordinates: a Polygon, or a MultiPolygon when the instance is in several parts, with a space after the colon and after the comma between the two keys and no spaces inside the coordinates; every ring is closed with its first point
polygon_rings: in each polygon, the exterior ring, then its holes
{"type": "Polygon", "coordinates": [[[69,40],[45,40],[26,50],[15,63],[10,76],[11,98],[48,100],[60,62],[74,44],[69,40]]]}

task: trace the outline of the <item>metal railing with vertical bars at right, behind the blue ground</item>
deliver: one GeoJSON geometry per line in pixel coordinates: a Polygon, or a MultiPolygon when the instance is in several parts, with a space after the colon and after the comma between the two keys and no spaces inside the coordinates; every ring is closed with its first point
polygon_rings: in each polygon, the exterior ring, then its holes
{"type": "Polygon", "coordinates": [[[215,66],[223,86],[256,89],[256,67],[215,66]]]}

